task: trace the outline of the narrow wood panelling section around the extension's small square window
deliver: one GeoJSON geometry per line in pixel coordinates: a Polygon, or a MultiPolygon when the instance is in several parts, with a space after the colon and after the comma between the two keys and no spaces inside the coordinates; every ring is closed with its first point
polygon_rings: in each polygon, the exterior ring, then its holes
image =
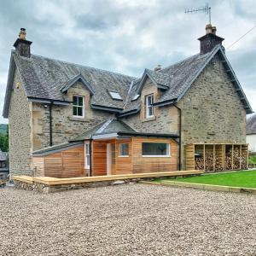
{"type": "Polygon", "coordinates": [[[131,139],[129,140],[117,140],[116,141],[116,164],[115,164],[115,174],[130,174],[132,173],[132,144],[131,139]],[[119,144],[128,143],[129,144],[129,156],[119,157],[119,144]]]}

